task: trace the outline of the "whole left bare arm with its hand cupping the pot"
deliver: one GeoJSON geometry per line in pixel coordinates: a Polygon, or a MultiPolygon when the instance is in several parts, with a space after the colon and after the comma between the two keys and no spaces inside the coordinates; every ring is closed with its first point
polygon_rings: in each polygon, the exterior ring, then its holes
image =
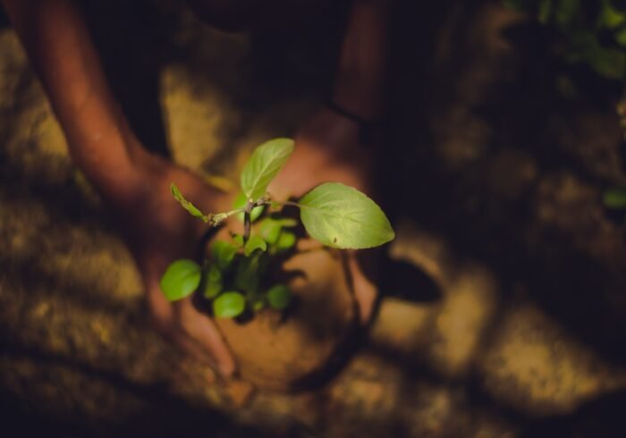
{"type": "Polygon", "coordinates": [[[199,314],[190,299],[167,302],[159,288],[160,276],[173,259],[194,256],[202,232],[199,221],[173,201],[170,183],[176,181],[207,211],[214,211],[216,190],[141,147],[114,100],[89,30],[71,0],[0,1],[46,88],[74,162],[118,219],[157,329],[224,375],[233,374],[233,357],[209,318],[199,314]]]}

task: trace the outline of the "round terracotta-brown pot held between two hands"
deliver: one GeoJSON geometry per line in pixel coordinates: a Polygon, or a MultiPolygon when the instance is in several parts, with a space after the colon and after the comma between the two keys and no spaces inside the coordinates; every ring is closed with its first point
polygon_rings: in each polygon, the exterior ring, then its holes
{"type": "Polygon", "coordinates": [[[296,306],[266,309],[246,323],[216,318],[241,377],[258,387],[291,391],[324,381],[356,341],[356,303],[341,256],[324,249],[296,254],[286,271],[296,306]]]}

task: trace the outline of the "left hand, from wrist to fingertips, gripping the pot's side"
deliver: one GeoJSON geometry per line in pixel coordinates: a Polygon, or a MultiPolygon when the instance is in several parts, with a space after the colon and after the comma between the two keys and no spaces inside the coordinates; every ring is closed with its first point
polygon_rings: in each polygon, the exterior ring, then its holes
{"type": "Polygon", "coordinates": [[[170,184],[203,211],[223,211],[223,193],[197,175],[147,153],[139,153],[130,193],[109,199],[123,237],[144,282],[148,307],[157,330],[220,375],[233,375],[236,364],[216,325],[199,312],[190,298],[171,303],[160,289],[167,266],[181,257],[198,258],[199,241],[207,225],[184,211],[172,197],[170,184]],[[220,210],[222,208],[222,210],[220,210]]]}

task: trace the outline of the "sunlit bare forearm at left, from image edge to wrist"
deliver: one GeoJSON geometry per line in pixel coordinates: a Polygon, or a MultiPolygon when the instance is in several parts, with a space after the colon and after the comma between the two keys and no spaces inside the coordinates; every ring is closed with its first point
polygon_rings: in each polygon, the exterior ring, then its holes
{"type": "Polygon", "coordinates": [[[106,198],[123,197],[137,141],[71,0],[2,0],[46,88],[70,153],[106,198]]]}

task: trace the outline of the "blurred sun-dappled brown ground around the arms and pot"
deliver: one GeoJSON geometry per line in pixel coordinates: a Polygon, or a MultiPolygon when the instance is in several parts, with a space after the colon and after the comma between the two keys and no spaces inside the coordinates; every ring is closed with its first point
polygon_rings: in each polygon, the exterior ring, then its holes
{"type": "MultiPolygon", "coordinates": [[[[174,1],[82,3],[142,142],[223,183],[323,105],[346,13],[228,34],[174,1]]],[[[316,391],[249,400],[150,328],[0,18],[0,434],[626,436],[623,3],[396,2],[369,341],[316,391]]]]}

